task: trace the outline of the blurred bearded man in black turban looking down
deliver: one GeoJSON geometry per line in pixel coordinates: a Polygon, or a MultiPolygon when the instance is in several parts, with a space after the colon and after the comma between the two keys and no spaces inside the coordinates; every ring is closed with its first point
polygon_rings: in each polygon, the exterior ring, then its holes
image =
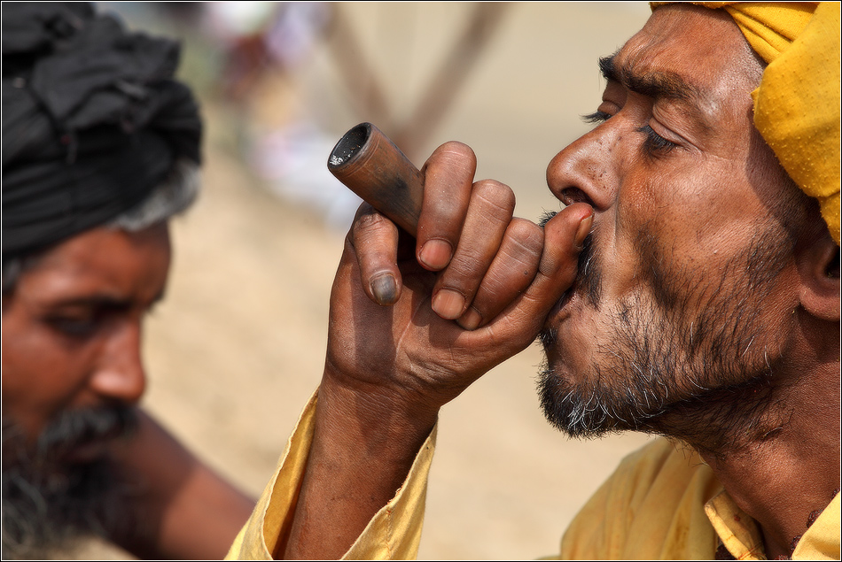
{"type": "Polygon", "coordinates": [[[253,502],[136,403],[168,219],[199,190],[177,43],[90,4],[3,7],[3,556],[95,534],[218,558],[253,502]]]}

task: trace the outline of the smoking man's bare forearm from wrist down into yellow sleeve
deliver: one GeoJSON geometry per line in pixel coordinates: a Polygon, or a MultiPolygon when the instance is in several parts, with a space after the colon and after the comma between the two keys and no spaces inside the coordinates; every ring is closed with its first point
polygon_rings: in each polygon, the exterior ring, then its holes
{"type": "Polygon", "coordinates": [[[410,413],[400,397],[372,390],[326,373],[299,501],[276,558],[340,558],[406,479],[437,411],[410,413]]]}

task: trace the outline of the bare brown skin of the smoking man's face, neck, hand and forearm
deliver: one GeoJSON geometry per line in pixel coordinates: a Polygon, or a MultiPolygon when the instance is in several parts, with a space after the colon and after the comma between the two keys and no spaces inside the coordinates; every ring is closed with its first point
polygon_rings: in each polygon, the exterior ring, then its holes
{"type": "MultiPolygon", "coordinates": [[[[764,327],[738,348],[746,362],[775,366],[763,427],[735,406],[728,424],[701,408],[693,432],[669,414],[659,431],[692,433],[690,443],[760,524],[769,558],[789,555],[808,514],[830,502],[839,474],[838,247],[815,204],[797,193],[795,212],[781,203],[791,203],[793,186],[752,125],[750,92],[762,66],[727,14],[676,4],[656,10],[612,62],[618,72],[598,108],[604,123],[550,163],[550,190],[569,206],[543,233],[519,220],[511,231],[476,226],[480,216],[505,223],[513,197],[496,182],[474,182],[472,150],[456,142],[425,164],[414,254],[402,252],[391,222],[361,210],[331,296],[315,441],[277,557],[341,556],[394,496],[440,406],[542,327],[557,332],[548,350],[554,376],[587,381],[591,363],[608,360],[600,342],[613,335],[610,312],[654,298],[640,274],[647,256],[635,246],[647,229],[676,271],[721,276],[716,291],[682,285],[689,305],[679,323],[692,321],[693,303],[708,293],[738,292],[743,273],[725,265],[750,251],[759,226],[791,241],[768,297],[727,301],[756,310],[764,327]],[[673,79],[693,95],[668,88],[673,79]],[[576,286],[559,301],[575,278],[581,229],[593,229],[611,266],[598,309],[576,286]],[[539,252],[532,237],[541,235],[539,252]],[[516,246],[530,250],[503,251],[516,246]],[[529,271],[538,273],[525,282],[529,271]],[[383,298],[372,289],[384,274],[396,288],[389,306],[375,304],[383,298]],[[743,440],[721,438],[745,427],[752,431],[743,440]]],[[[732,370],[716,382],[741,376],[752,381],[732,370]]],[[[680,399],[691,382],[676,384],[680,399]]]]}

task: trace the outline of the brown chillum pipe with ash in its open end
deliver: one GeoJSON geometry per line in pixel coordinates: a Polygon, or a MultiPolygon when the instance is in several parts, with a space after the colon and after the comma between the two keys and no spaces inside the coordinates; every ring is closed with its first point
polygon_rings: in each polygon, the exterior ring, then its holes
{"type": "Polygon", "coordinates": [[[361,123],[339,139],[327,169],[363,201],[417,235],[424,177],[378,127],[361,123]]]}

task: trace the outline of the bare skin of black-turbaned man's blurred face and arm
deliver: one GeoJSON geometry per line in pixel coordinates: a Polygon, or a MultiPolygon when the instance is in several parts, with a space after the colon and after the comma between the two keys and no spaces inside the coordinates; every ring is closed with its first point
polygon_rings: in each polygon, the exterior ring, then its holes
{"type": "MultiPolygon", "coordinates": [[[[3,299],[3,409],[35,443],[58,412],[136,406],[145,388],[142,324],[166,287],[166,224],[74,236],[22,273],[3,299]]],[[[253,500],[139,411],[128,440],[105,439],[73,462],[111,457],[143,493],[129,506],[152,536],[110,537],[140,558],[222,558],[253,500]]]]}

